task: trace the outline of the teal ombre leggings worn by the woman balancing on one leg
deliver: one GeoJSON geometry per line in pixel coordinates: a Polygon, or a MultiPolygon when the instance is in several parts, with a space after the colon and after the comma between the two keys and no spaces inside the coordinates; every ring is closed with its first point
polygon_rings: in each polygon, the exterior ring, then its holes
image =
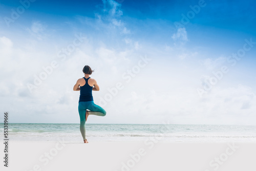
{"type": "Polygon", "coordinates": [[[93,101],[80,101],[78,104],[78,112],[80,116],[80,132],[83,140],[86,139],[86,110],[89,111],[89,115],[105,116],[106,111],[101,106],[94,104],[93,101]]]}

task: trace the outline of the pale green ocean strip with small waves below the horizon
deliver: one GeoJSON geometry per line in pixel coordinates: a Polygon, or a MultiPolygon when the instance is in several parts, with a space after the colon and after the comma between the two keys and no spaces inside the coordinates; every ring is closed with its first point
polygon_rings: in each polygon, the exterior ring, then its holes
{"type": "MultiPolygon", "coordinates": [[[[2,133],[3,127],[1,123],[2,133]]],[[[10,141],[83,141],[78,123],[9,123],[8,127],[10,141]]],[[[167,142],[256,142],[256,126],[86,123],[86,136],[89,142],[148,138],[167,142]]]]}

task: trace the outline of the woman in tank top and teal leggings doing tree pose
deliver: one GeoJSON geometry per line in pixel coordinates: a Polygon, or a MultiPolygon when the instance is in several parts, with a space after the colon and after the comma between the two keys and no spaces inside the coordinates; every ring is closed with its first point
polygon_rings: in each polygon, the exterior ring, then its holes
{"type": "Polygon", "coordinates": [[[82,69],[84,77],[76,81],[73,88],[74,91],[80,91],[78,112],[80,116],[80,132],[82,134],[83,142],[88,143],[86,139],[85,124],[89,115],[105,116],[106,111],[100,106],[94,104],[92,91],[99,91],[99,86],[95,79],[90,75],[94,72],[89,66],[84,66],[82,69]],[[80,87],[79,87],[80,86],[80,87]],[[87,111],[90,110],[90,111],[87,111]]]}

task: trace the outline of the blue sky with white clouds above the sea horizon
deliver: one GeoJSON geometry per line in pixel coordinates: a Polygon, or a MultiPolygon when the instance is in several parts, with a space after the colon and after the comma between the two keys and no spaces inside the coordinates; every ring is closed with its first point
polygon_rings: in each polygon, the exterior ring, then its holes
{"type": "Polygon", "coordinates": [[[8,26],[12,10],[23,7],[0,1],[3,111],[13,122],[78,123],[79,92],[72,88],[90,65],[101,87],[95,103],[117,82],[124,86],[104,105],[107,116],[90,123],[256,124],[256,44],[246,45],[250,50],[241,59],[229,58],[247,41],[256,42],[254,6],[254,1],[37,0],[8,26]],[[183,15],[189,21],[177,28],[183,15]],[[58,54],[77,35],[81,45],[60,60],[58,54]],[[145,56],[151,60],[126,82],[122,75],[145,56]],[[53,60],[58,67],[31,91],[28,83],[53,60]],[[205,90],[223,67],[228,72],[205,90]]]}

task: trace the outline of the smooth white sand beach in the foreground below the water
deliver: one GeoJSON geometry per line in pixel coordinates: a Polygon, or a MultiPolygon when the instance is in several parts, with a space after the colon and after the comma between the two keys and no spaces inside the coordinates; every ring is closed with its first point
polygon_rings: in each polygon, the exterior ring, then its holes
{"type": "MultiPolygon", "coordinates": [[[[1,151],[4,144],[0,145],[1,151]]],[[[2,151],[3,156],[3,151],[2,151]]],[[[1,170],[255,170],[256,143],[10,141],[1,170]]],[[[3,157],[2,157],[3,160],[3,157]]]]}

